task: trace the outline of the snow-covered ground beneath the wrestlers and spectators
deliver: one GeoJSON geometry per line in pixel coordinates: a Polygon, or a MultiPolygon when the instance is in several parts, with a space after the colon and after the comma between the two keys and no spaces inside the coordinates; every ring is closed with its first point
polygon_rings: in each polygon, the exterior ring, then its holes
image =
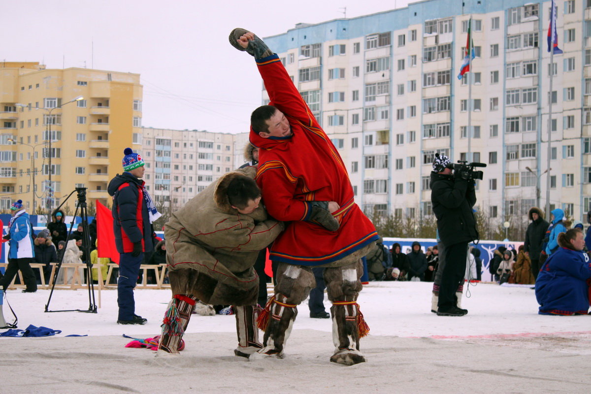
{"type": "MultiPolygon", "coordinates": [[[[99,292],[96,291],[97,304],[99,292]]],[[[143,326],[116,324],[116,291],[100,292],[97,314],[44,312],[49,291],[8,291],[18,327],[62,330],[45,338],[0,338],[1,386],[9,393],[578,393],[591,385],[591,316],[537,314],[534,291],[481,283],[465,288],[464,317],[430,312],[431,284],[372,282],[359,297],[371,328],[368,362],[329,362],[332,322],[311,319],[307,303],[283,360],[233,356],[233,316],[193,315],[176,357],[129,349],[160,332],[169,290],[135,291],[143,326]],[[70,334],[87,337],[65,337],[70,334]]],[[[328,305],[325,302],[325,305],[328,305]]],[[[48,310],[86,310],[85,290],[56,290],[48,310]]],[[[4,303],[4,317],[12,315],[4,303]]],[[[4,331],[4,330],[2,330],[4,331]]],[[[261,336],[262,337],[262,336],[261,336]]]]}

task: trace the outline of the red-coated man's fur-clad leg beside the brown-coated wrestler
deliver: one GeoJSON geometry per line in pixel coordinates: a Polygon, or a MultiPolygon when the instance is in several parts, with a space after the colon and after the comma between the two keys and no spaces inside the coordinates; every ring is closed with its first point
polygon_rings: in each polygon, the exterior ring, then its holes
{"type": "MultiPolygon", "coordinates": [[[[309,267],[279,263],[275,295],[265,307],[268,323],[259,325],[264,331],[261,354],[282,358],[283,348],[296,320],[297,305],[304,301],[316,286],[314,274],[309,267]]],[[[259,324],[261,324],[259,322],[259,324]]]]}

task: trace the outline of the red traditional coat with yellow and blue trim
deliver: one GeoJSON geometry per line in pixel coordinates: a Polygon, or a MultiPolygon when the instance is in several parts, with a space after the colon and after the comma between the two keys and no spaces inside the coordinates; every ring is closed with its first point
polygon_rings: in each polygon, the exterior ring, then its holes
{"type": "MultiPolygon", "coordinates": [[[[293,135],[262,138],[256,182],[269,214],[290,222],[271,248],[271,259],[298,265],[338,263],[378,239],[374,225],[353,200],[343,160],[312,115],[277,55],[257,59],[271,102],[287,117],[293,135]],[[309,222],[310,201],[336,201],[336,232],[309,222]]],[[[287,223],[286,223],[287,224],[287,223]]]]}

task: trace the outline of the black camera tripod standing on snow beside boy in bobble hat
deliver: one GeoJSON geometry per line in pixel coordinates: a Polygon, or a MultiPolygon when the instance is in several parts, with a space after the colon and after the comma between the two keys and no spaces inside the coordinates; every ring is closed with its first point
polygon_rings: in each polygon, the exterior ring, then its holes
{"type": "MultiPolygon", "coordinates": [[[[78,203],[76,204],[76,211],[74,212],[74,217],[77,216],[78,210],[80,210],[80,217],[82,218],[82,248],[84,249],[86,255],[86,286],[88,288],[88,300],[89,306],[87,310],[82,309],[73,309],[73,310],[63,310],[63,311],[50,311],[49,310],[49,303],[51,302],[51,296],[53,295],[53,290],[56,287],[57,275],[60,272],[61,262],[63,261],[64,255],[61,255],[61,259],[57,262],[56,271],[53,273],[53,284],[51,285],[51,292],[49,293],[49,298],[47,299],[47,304],[45,305],[46,312],[87,312],[87,313],[97,313],[96,311],[96,304],[95,304],[95,285],[92,282],[92,263],[90,263],[90,229],[88,227],[88,215],[86,212],[86,187],[77,187],[69,196],[66,197],[63,203],[57,207],[56,211],[66,203],[66,201],[72,197],[72,194],[77,193],[78,203]]],[[[72,233],[72,228],[74,226],[74,220],[70,223],[70,229],[68,230],[68,238],[70,238],[70,234],[72,233]]],[[[66,244],[67,245],[67,244],[66,244]]],[[[77,268],[76,268],[77,269],[77,268]]],[[[100,269],[100,268],[99,268],[100,269]]]]}

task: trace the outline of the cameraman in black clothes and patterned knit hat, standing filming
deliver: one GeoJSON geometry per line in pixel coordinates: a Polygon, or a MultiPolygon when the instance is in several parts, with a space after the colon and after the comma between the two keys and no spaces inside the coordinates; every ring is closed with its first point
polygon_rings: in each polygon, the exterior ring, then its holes
{"type": "Polygon", "coordinates": [[[468,243],[478,239],[472,207],[476,204],[474,181],[469,168],[454,165],[449,157],[435,154],[431,172],[431,203],[437,217],[437,230],[446,252],[441,275],[438,316],[463,316],[457,307],[456,289],[463,284],[468,243]],[[470,180],[469,180],[470,179],[470,180]]]}

